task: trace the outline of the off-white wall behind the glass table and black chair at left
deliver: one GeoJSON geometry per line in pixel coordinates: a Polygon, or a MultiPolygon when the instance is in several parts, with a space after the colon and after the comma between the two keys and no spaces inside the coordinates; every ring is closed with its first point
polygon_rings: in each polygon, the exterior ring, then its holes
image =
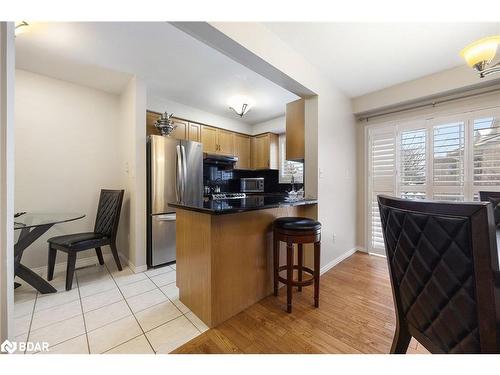
{"type": "MultiPolygon", "coordinates": [[[[16,70],[15,89],[15,210],[87,215],[54,226],[25,251],[27,266],[46,266],[47,238],[92,231],[99,190],[124,188],[120,101],[23,70],[16,70]]],[[[64,260],[59,253],[57,261],[64,260]]]]}

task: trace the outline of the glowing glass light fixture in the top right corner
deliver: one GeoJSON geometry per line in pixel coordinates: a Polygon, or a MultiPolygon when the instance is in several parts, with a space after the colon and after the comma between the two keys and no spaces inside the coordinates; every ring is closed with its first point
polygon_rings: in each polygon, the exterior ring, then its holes
{"type": "Polygon", "coordinates": [[[484,78],[491,73],[500,72],[500,62],[491,65],[500,44],[500,35],[479,39],[465,47],[460,55],[467,64],[477,70],[479,77],[484,78]]]}

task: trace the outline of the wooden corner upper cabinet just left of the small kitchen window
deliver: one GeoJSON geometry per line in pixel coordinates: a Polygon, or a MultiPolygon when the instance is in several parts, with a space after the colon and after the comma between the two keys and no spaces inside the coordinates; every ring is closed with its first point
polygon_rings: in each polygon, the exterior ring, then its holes
{"type": "Polygon", "coordinates": [[[251,168],[279,169],[278,135],[264,133],[252,137],[251,168]]]}

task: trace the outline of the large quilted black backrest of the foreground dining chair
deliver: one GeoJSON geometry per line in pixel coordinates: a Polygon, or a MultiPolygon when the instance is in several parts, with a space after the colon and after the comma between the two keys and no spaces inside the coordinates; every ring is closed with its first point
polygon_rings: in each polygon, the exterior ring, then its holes
{"type": "Polygon", "coordinates": [[[398,327],[433,353],[498,353],[491,205],[378,203],[398,327]]]}

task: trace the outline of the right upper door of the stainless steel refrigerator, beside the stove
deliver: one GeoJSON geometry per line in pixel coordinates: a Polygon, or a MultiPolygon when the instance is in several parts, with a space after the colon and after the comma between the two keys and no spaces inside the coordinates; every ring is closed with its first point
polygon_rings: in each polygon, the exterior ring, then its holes
{"type": "Polygon", "coordinates": [[[203,147],[199,142],[181,141],[182,201],[188,205],[203,202],[203,147]]]}

